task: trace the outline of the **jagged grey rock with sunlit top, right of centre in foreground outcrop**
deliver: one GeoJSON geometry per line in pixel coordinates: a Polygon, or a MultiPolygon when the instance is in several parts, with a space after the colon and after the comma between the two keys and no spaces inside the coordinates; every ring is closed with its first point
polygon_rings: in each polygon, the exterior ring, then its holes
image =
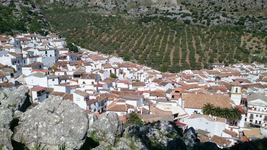
{"type": "Polygon", "coordinates": [[[171,134],[171,135],[174,135],[175,137],[180,137],[174,125],[172,125],[168,121],[159,121],[154,125],[154,128],[159,129],[159,131],[164,135],[171,134]]]}

